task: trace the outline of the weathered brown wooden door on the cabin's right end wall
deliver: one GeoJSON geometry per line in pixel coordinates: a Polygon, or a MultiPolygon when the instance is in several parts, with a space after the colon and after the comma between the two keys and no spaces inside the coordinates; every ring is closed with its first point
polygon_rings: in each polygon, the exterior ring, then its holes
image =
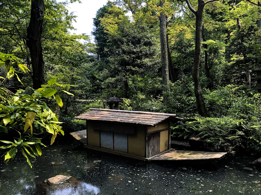
{"type": "Polygon", "coordinates": [[[160,132],[148,134],[148,157],[160,153],[160,132]]]}

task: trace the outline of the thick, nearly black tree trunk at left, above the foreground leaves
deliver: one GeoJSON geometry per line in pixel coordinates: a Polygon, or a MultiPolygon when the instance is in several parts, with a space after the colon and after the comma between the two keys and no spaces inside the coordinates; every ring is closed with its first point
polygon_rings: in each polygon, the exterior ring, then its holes
{"type": "Polygon", "coordinates": [[[31,55],[33,88],[44,83],[44,60],[41,35],[43,32],[44,0],[31,0],[31,18],[27,28],[27,46],[31,55]]]}

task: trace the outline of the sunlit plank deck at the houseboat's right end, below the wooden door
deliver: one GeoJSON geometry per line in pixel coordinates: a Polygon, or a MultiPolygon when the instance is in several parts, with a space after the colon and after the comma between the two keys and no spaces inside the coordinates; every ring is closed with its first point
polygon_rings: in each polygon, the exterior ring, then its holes
{"type": "Polygon", "coordinates": [[[174,161],[193,161],[193,160],[219,160],[226,155],[227,152],[200,152],[186,150],[172,150],[167,153],[158,155],[151,160],[174,160],[174,161]]]}

